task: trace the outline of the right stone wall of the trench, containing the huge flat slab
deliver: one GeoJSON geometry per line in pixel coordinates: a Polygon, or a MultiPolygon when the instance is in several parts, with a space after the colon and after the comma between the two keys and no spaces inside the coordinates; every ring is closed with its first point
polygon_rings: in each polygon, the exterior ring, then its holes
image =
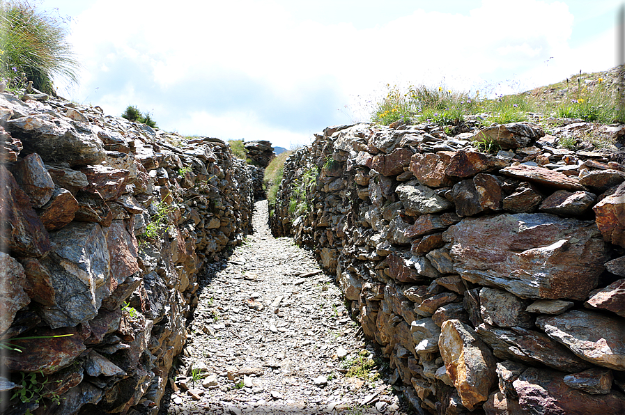
{"type": "Polygon", "coordinates": [[[474,121],[328,127],[287,160],[272,232],[336,274],[419,413],[625,413],[622,155],[557,146],[620,128],[474,121]]]}

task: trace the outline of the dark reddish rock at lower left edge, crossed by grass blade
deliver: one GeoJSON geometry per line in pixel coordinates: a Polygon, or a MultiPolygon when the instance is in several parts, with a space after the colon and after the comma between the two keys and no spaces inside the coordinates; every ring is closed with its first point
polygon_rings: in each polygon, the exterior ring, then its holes
{"type": "Polygon", "coordinates": [[[3,354],[1,361],[6,364],[9,370],[17,372],[41,371],[43,375],[49,375],[68,366],[86,349],[83,344],[84,335],[75,327],[56,330],[41,327],[29,331],[28,336],[45,336],[46,338],[11,340],[11,344],[20,347],[22,353],[10,351],[3,354]],[[63,336],[65,334],[71,334],[71,336],[63,336]]]}

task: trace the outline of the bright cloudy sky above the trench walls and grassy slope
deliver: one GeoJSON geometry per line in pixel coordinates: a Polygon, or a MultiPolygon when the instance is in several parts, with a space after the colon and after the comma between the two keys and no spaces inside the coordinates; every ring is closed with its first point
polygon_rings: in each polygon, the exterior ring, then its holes
{"type": "Polygon", "coordinates": [[[386,84],[507,93],[616,65],[622,1],[40,0],[70,17],[64,97],[167,131],[308,143],[386,84]],[[592,4],[592,6],[591,6],[592,4]]]}

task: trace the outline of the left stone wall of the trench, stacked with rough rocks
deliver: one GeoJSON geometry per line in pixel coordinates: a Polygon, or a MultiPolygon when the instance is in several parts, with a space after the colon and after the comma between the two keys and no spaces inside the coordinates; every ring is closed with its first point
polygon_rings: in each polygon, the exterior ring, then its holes
{"type": "Polygon", "coordinates": [[[202,266],[252,230],[252,171],[219,139],[8,93],[0,138],[1,412],[156,414],[202,266]]]}

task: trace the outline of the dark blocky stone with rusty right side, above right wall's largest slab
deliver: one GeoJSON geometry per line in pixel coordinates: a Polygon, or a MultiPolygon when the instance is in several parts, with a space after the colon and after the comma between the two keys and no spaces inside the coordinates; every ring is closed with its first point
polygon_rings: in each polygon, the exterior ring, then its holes
{"type": "Polygon", "coordinates": [[[478,174],[472,179],[456,183],[452,191],[459,217],[501,209],[502,190],[494,175],[478,174]]]}

